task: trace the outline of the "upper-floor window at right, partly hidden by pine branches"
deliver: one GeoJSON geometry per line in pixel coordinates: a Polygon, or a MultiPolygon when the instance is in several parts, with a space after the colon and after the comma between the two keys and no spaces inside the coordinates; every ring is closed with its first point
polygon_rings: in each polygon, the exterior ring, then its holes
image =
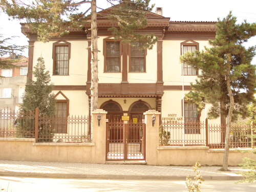
{"type": "MultiPolygon", "coordinates": [[[[193,51],[199,50],[199,43],[194,40],[186,40],[184,42],[181,42],[181,49],[182,53],[191,53],[193,51]]],[[[197,75],[198,71],[191,67],[190,65],[187,65],[186,63],[183,63],[183,75],[197,75]]]]}

